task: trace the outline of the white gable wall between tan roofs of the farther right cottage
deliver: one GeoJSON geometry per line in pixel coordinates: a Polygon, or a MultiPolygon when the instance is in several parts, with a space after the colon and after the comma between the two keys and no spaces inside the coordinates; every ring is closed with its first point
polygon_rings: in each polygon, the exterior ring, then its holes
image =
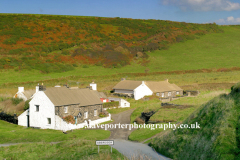
{"type": "Polygon", "coordinates": [[[140,86],[134,89],[134,99],[139,100],[144,96],[150,96],[153,92],[146,86],[145,83],[142,83],[140,86]]]}

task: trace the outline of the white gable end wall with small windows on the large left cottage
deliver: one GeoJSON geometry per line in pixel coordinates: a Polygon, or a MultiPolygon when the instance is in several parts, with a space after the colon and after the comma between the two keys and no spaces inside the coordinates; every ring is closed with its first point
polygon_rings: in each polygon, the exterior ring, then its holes
{"type": "Polygon", "coordinates": [[[43,91],[37,92],[29,102],[29,121],[30,127],[55,128],[55,107],[43,91]],[[35,105],[39,105],[38,112],[35,105]],[[47,118],[51,118],[51,124],[47,118]]]}

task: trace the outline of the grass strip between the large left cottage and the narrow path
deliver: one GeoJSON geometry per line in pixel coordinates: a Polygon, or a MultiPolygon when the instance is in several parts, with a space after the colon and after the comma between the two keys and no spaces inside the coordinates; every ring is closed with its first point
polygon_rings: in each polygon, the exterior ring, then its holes
{"type": "Polygon", "coordinates": [[[10,124],[0,120],[0,143],[17,142],[58,142],[84,138],[86,140],[106,139],[110,131],[105,130],[73,130],[68,134],[50,129],[33,129],[10,124]]]}

